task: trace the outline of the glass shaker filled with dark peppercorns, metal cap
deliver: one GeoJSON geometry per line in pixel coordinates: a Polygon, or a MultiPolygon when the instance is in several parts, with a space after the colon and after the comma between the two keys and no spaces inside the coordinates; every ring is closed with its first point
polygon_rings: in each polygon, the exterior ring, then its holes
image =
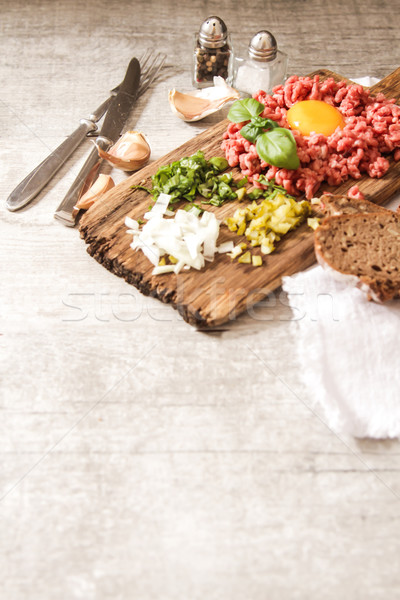
{"type": "Polygon", "coordinates": [[[232,83],[233,53],[227,27],[219,17],[208,17],[195,34],[193,85],[213,85],[215,76],[232,83]]]}

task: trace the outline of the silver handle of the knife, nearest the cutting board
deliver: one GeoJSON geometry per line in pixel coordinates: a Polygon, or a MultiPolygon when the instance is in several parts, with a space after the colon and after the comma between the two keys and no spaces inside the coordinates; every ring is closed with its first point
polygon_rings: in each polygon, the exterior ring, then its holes
{"type": "Polygon", "coordinates": [[[54,213],[54,218],[61,221],[63,225],[67,225],[68,227],[75,226],[76,216],[79,211],[74,210],[74,206],[93,182],[101,160],[97,152],[97,147],[93,148],[74,183],[69,188],[64,200],[54,213]]]}

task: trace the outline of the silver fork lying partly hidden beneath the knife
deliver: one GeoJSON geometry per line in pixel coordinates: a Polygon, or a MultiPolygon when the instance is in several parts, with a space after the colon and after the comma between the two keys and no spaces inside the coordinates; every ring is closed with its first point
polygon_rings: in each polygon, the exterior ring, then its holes
{"type": "MultiPolygon", "coordinates": [[[[151,83],[160,73],[166,56],[162,53],[153,54],[146,50],[139,59],[141,79],[138,96],[146,92],[151,83]]],[[[6,200],[8,210],[15,211],[31,202],[45,185],[54,177],[65,161],[71,156],[85,137],[97,135],[96,123],[107,112],[113,97],[118,93],[119,85],[110,91],[110,96],[93,111],[87,119],[81,119],[79,127],[64,140],[47,158],[44,159],[21,183],[11,192],[6,200]]]]}

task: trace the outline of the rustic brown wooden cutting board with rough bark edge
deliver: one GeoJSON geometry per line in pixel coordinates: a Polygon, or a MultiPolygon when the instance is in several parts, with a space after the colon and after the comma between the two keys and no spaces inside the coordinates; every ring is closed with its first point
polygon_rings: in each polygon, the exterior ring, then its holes
{"type": "MultiPolygon", "coordinates": [[[[344,79],[328,70],[315,71],[311,76],[315,74],[321,79],[344,79]]],[[[371,89],[373,94],[384,92],[387,98],[399,101],[400,68],[371,89]]],[[[240,264],[227,255],[219,254],[212,263],[206,263],[201,271],[190,269],[179,275],[169,273],[152,276],[153,265],[141,251],[130,248],[132,238],[126,234],[125,217],[143,217],[151,203],[151,197],[146,192],[132,190],[131,186],[143,180],[144,185],[150,185],[151,176],[161,165],[190,156],[197,150],[203,150],[206,158],[222,156],[221,141],[227,125],[227,120],[218,123],[135,173],[110,190],[101,202],[94,204],[80,222],[81,236],[89,245],[88,252],[98,262],[124,277],[144,294],[170,303],[186,321],[202,328],[217,327],[235,319],[278,288],[283,276],[292,275],[315,262],[313,231],[306,224],[287,234],[277,244],[273,254],[263,256],[261,267],[240,264]]],[[[239,178],[239,170],[236,168],[232,171],[239,178]]],[[[357,182],[350,179],[334,190],[325,186],[318,193],[323,190],[346,193],[354,183],[358,183],[368,199],[384,204],[400,189],[400,162],[391,164],[381,179],[366,176],[357,182]]],[[[238,204],[238,201],[234,201],[218,208],[207,206],[207,210],[212,210],[223,220],[233,214],[238,204]]],[[[235,244],[244,240],[221,226],[219,242],[229,239],[235,244]]],[[[255,253],[254,250],[252,252],[255,253]]]]}

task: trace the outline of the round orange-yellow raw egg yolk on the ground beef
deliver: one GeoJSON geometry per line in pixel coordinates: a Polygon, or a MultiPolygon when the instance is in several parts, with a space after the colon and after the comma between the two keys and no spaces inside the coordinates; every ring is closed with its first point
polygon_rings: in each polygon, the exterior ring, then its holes
{"type": "Polygon", "coordinates": [[[344,119],[337,108],[322,100],[302,100],[289,108],[286,118],[291,129],[302,135],[322,133],[331,135],[336,127],[344,127],[344,119]]]}

